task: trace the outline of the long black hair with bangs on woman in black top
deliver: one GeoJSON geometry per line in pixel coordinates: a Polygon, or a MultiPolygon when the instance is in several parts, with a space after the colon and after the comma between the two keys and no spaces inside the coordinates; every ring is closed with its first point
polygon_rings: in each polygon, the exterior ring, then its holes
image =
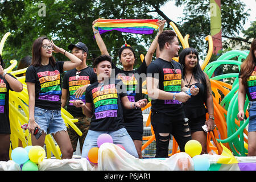
{"type": "MultiPolygon", "coordinates": [[[[198,56],[198,52],[196,51],[195,48],[185,48],[183,49],[183,51],[180,52],[179,55],[179,63],[182,65],[183,67],[183,73],[185,75],[186,73],[186,69],[185,69],[185,57],[189,54],[195,54],[197,57],[197,64],[195,66],[195,68],[193,69],[193,76],[195,77],[195,80],[198,82],[202,82],[202,84],[204,85],[204,87],[208,90],[208,86],[207,86],[207,80],[205,78],[204,72],[200,67],[199,64],[199,56],[198,56]]],[[[207,93],[207,92],[205,92],[207,93]]]]}

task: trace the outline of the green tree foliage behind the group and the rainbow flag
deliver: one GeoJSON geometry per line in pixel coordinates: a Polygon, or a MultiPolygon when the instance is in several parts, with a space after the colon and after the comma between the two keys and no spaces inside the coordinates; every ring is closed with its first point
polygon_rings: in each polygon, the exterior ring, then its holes
{"type": "MultiPolygon", "coordinates": [[[[84,42],[89,48],[87,63],[100,55],[96,41],[93,38],[92,22],[98,18],[110,19],[166,19],[171,21],[160,7],[166,6],[168,0],[65,0],[65,1],[0,1],[0,37],[10,31],[11,36],[3,49],[3,59],[20,60],[31,55],[32,43],[36,38],[47,35],[55,44],[68,49],[70,43],[84,42]],[[46,5],[46,16],[39,16],[39,3],[46,5]],[[155,12],[156,14],[152,14],[155,12]]],[[[226,0],[222,3],[222,35],[235,36],[243,30],[246,16],[242,3],[238,0],[226,0]]],[[[207,42],[204,38],[210,35],[209,1],[185,0],[176,1],[176,5],[185,4],[185,18],[175,22],[181,34],[190,35],[189,44],[201,51],[206,51],[207,42]]],[[[171,7],[170,7],[171,11],[171,7]]],[[[166,26],[168,28],[168,26],[166,26]]],[[[254,26],[255,27],[255,26],[254,26]]],[[[254,31],[255,32],[255,31],[254,31]]],[[[249,32],[248,32],[249,34],[249,32]]],[[[133,46],[139,55],[146,54],[156,32],[152,35],[134,35],[118,31],[102,34],[106,47],[114,61],[118,62],[118,49],[125,40],[133,46]]],[[[205,52],[204,52],[205,53],[205,52]]],[[[61,54],[55,55],[57,60],[65,60],[61,54]]]]}

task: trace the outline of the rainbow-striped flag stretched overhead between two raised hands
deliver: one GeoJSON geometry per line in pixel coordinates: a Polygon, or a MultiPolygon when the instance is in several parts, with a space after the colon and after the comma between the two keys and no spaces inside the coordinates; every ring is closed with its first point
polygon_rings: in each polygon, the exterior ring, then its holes
{"type": "Polygon", "coordinates": [[[94,27],[103,34],[117,30],[132,34],[152,34],[158,29],[158,19],[98,19],[94,27]]]}

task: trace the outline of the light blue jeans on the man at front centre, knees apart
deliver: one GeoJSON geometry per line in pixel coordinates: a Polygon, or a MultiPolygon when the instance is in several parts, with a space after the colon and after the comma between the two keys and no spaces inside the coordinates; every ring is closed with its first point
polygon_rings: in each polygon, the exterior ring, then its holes
{"type": "Polygon", "coordinates": [[[84,140],[84,145],[82,146],[82,155],[81,155],[82,158],[86,158],[90,148],[98,147],[97,145],[98,136],[104,133],[109,134],[112,137],[114,144],[122,144],[122,146],[125,147],[126,152],[135,156],[135,158],[139,157],[137,150],[135,148],[135,145],[133,143],[133,140],[131,139],[130,135],[127,133],[126,129],[123,127],[122,129],[119,129],[117,131],[89,130],[84,140]]]}

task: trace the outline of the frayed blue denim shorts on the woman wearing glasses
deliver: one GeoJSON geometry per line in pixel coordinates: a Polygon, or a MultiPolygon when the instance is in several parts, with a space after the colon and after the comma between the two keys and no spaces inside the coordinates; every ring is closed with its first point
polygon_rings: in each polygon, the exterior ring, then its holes
{"type": "Polygon", "coordinates": [[[55,134],[58,131],[67,131],[60,110],[47,110],[35,107],[35,122],[40,126],[40,130],[46,134],[55,134]]]}

